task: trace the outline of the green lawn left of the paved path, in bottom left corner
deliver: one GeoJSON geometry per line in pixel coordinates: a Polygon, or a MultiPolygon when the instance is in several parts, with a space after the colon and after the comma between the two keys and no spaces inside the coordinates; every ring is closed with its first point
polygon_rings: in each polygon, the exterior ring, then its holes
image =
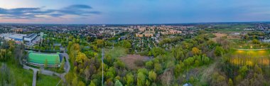
{"type": "Polygon", "coordinates": [[[11,71],[12,77],[16,81],[16,86],[21,86],[24,83],[26,85],[32,85],[33,81],[33,71],[32,70],[25,70],[23,68],[18,68],[13,63],[6,63],[9,70],[11,71]]]}

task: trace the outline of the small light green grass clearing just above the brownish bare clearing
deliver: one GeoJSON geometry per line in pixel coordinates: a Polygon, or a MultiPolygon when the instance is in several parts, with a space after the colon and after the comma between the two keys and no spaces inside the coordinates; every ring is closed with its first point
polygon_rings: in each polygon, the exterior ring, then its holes
{"type": "Polygon", "coordinates": [[[114,49],[107,50],[105,54],[112,56],[112,58],[119,58],[126,55],[126,48],[114,47],[114,49]]]}

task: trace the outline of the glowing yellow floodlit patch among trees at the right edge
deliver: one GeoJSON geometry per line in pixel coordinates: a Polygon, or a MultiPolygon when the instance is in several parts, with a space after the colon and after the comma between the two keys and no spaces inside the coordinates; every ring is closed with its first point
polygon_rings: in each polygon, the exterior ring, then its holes
{"type": "Polygon", "coordinates": [[[232,57],[230,63],[234,65],[269,65],[269,50],[258,49],[244,49],[232,50],[232,57]]]}

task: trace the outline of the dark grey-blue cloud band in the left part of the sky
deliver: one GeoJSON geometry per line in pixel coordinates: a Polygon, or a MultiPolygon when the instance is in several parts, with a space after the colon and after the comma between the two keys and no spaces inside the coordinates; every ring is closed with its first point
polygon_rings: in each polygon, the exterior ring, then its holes
{"type": "Polygon", "coordinates": [[[64,7],[63,9],[44,9],[41,8],[16,8],[4,9],[0,8],[0,18],[58,18],[67,15],[73,16],[90,16],[90,14],[101,14],[100,11],[92,11],[91,6],[75,4],[64,7]]]}

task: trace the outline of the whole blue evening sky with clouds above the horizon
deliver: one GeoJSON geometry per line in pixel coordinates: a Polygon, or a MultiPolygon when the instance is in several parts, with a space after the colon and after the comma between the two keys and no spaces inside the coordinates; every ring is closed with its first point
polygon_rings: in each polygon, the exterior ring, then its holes
{"type": "Polygon", "coordinates": [[[0,23],[270,21],[269,0],[0,0],[0,23]]]}

